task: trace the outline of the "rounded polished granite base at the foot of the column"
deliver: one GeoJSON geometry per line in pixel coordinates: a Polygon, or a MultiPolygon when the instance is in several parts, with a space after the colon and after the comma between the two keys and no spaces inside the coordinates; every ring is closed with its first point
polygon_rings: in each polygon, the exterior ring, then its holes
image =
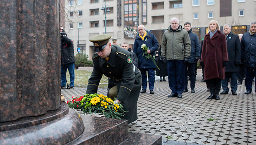
{"type": "Polygon", "coordinates": [[[78,138],[84,123],[65,102],[57,110],[37,117],[0,123],[1,144],[66,144],[78,138]]]}

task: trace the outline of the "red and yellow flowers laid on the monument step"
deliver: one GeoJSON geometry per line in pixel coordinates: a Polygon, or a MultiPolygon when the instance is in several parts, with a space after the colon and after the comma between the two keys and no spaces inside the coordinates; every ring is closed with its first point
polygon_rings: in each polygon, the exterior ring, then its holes
{"type": "Polygon", "coordinates": [[[121,104],[114,102],[111,98],[102,94],[86,94],[80,97],[72,97],[67,101],[68,107],[72,109],[81,109],[86,114],[101,113],[106,118],[118,118],[124,116],[126,111],[121,104]]]}

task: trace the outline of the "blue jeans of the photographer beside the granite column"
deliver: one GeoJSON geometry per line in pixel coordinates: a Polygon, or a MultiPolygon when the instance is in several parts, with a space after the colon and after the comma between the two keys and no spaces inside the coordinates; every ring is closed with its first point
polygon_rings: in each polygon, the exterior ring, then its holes
{"type": "Polygon", "coordinates": [[[75,63],[61,64],[61,86],[66,86],[67,69],[70,76],[70,86],[74,86],[75,82],[75,63]]]}

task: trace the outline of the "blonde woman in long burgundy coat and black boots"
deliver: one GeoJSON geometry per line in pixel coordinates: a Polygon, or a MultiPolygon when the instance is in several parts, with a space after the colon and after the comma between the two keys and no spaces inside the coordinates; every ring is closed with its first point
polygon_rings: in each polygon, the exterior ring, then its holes
{"type": "Polygon", "coordinates": [[[209,23],[209,32],[204,36],[200,64],[204,67],[204,80],[208,81],[210,96],[220,100],[221,80],[225,78],[225,65],[228,61],[226,36],[220,31],[217,21],[209,23]]]}

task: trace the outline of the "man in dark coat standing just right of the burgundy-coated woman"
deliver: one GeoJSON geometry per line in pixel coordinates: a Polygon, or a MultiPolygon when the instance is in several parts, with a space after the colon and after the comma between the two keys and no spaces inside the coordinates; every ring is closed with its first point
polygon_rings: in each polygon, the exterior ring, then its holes
{"type": "Polygon", "coordinates": [[[241,47],[239,36],[231,32],[231,25],[223,25],[223,32],[226,35],[228,62],[225,68],[225,79],[222,80],[221,85],[223,91],[221,94],[228,94],[228,82],[231,82],[232,95],[237,95],[238,81],[236,73],[239,71],[239,64],[241,62],[241,47]]]}

